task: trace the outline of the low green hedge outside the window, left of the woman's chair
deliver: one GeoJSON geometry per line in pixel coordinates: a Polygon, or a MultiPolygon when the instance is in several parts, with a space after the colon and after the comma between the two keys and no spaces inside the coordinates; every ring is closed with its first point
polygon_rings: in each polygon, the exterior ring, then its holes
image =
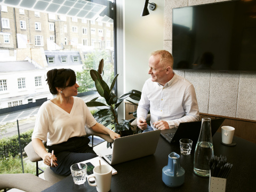
{"type": "MultiPolygon", "coordinates": [[[[31,141],[31,135],[33,130],[29,130],[20,134],[21,149],[24,148],[31,141]]],[[[0,159],[6,159],[8,157],[15,157],[20,154],[19,138],[18,134],[12,137],[3,138],[0,140],[0,159]]]]}

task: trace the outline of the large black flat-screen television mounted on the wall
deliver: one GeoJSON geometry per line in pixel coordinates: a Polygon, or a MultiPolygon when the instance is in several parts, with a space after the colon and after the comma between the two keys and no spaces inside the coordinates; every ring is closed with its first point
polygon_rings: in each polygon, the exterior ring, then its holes
{"type": "Polygon", "coordinates": [[[174,70],[256,72],[256,0],[173,9],[174,70]]]}

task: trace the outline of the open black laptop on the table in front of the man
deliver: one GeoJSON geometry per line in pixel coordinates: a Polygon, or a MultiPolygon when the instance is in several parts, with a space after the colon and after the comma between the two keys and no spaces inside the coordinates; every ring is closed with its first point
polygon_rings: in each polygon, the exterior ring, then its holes
{"type": "MultiPolygon", "coordinates": [[[[224,120],[225,118],[211,120],[212,136],[217,132],[224,120]]],[[[201,131],[201,124],[202,121],[180,123],[178,128],[162,130],[161,135],[170,143],[179,142],[183,138],[191,139],[193,143],[196,143],[201,131]]]]}

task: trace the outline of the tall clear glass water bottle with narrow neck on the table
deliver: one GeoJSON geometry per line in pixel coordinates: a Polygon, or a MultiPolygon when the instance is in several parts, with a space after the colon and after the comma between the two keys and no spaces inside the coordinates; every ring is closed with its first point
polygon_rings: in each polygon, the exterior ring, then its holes
{"type": "Polygon", "coordinates": [[[202,177],[209,177],[211,157],[213,157],[211,119],[202,118],[201,132],[194,155],[194,173],[202,177]]]}

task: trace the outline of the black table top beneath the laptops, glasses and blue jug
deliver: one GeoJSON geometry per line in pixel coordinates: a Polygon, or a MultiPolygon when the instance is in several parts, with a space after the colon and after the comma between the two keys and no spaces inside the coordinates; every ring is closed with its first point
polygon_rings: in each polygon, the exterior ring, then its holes
{"type": "MultiPolygon", "coordinates": [[[[233,164],[227,178],[226,191],[255,191],[256,145],[238,137],[233,140],[237,145],[230,147],[221,144],[220,133],[215,133],[213,137],[214,155],[226,156],[227,161],[233,164]]],[[[196,145],[196,141],[194,144],[196,145]]],[[[208,191],[209,178],[193,173],[195,145],[191,154],[185,156],[180,154],[179,144],[169,144],[159,137],[154,155],[113,165],[117,174],[112,176],[111,191],[208,191]],[[166,186],[162,181],[162,169],[167,165],[168,155],[173,151],[180,155],[180,166],[185,169],[185,182],[175,188],[166,186]]],[[[87,181],[84,185],[77,186],[69,175],[44,190],[49,191],[96,191],[96,188],[89,186],[87,181]]]]}

